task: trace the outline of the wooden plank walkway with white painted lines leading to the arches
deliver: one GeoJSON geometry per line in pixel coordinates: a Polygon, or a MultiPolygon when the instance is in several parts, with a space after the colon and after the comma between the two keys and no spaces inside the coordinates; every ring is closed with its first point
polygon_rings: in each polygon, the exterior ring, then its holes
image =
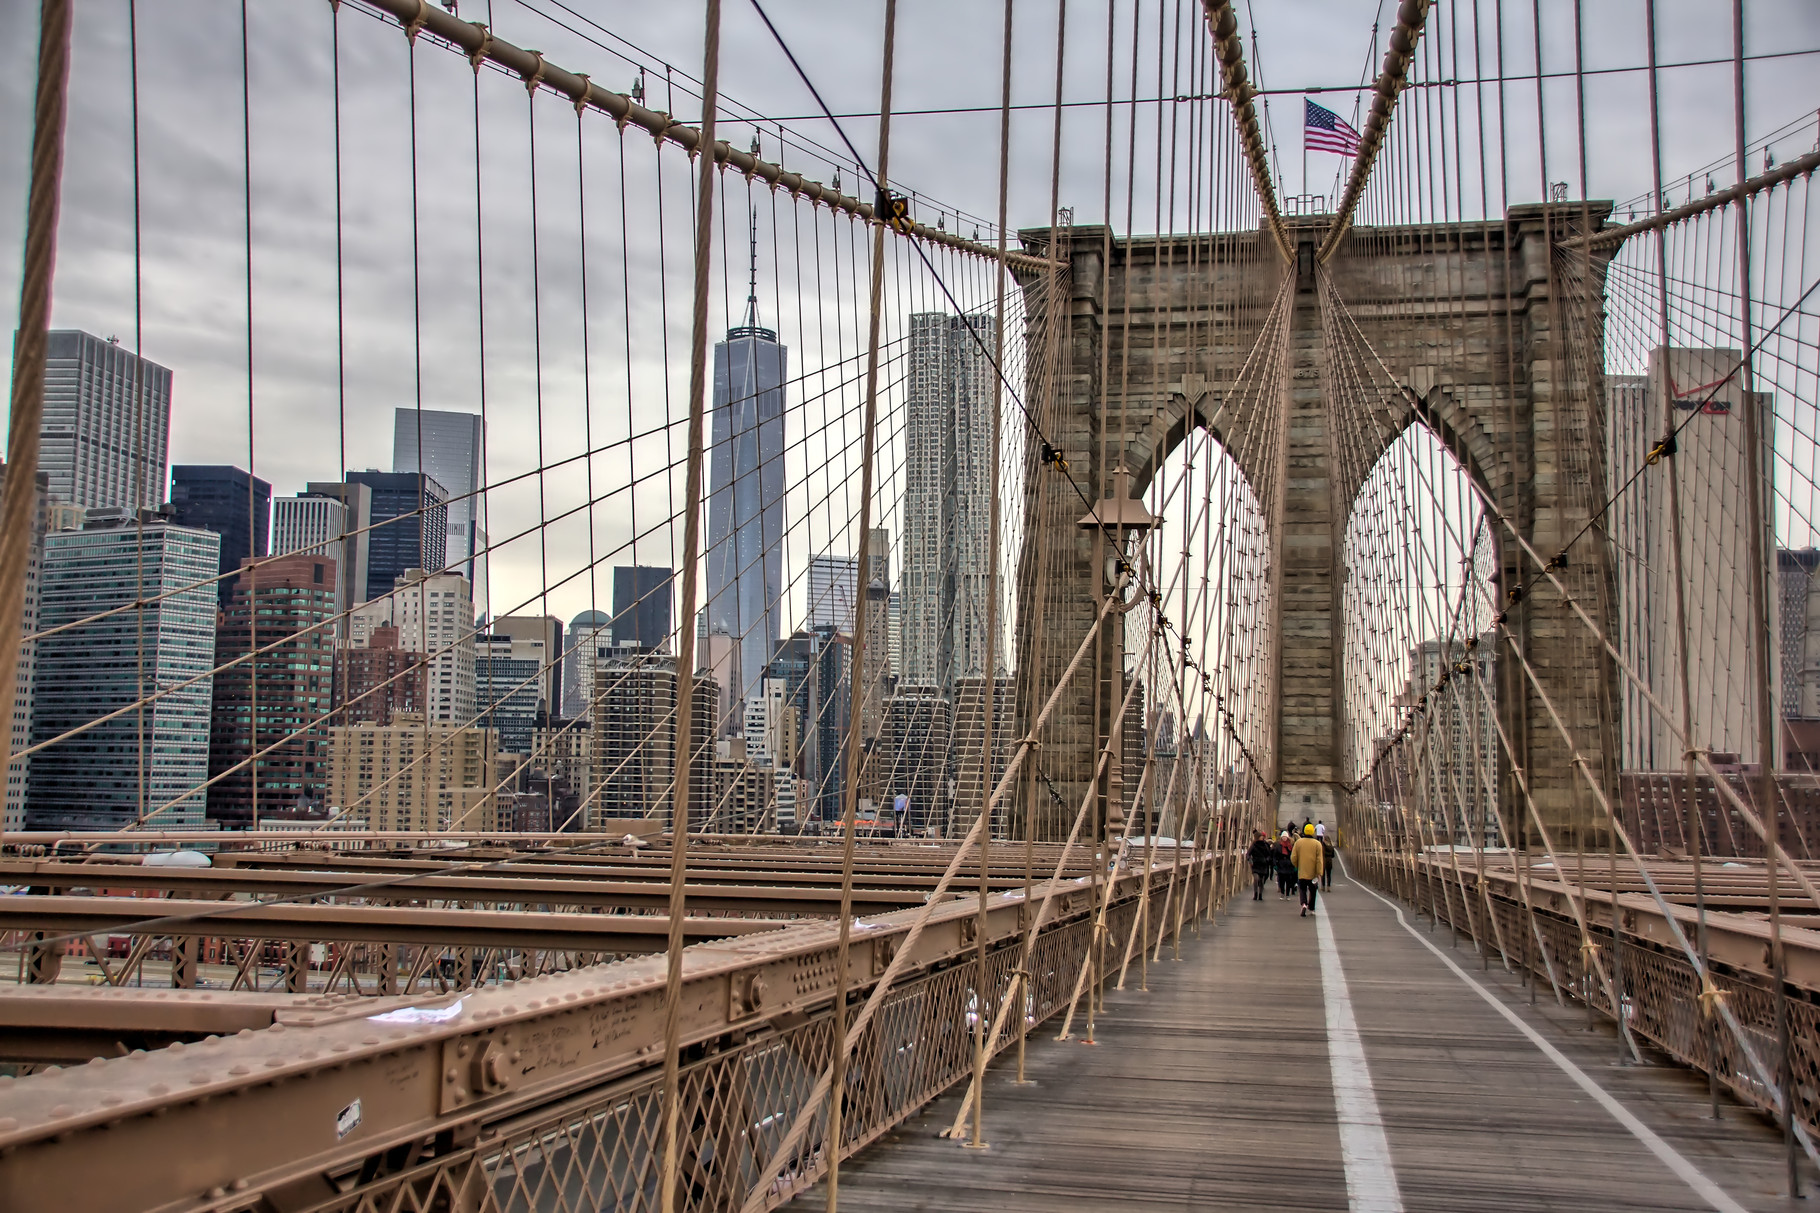
{"type": "MultiPolygon", "coordinates": [[[[1030,1044],[1014,1086],[1006,1056],[986,1084],[985,1151],[935,1137],[959,1091],[841,1169],[844,1213],[1065,1209],[1347,1209],[1321,963],[1312,918],[1236,900],[1183,962],[1138,969],[1108,994],[1097,1045],[1030,1044]]],[[[1405,931],[1394,909],[1336,880],[1323,896],[1389,1142],[1401,1208],[1711,1209],[1542,1049],[1405,931]]],[[[1609,1027],[1560,1009],[1471,942],[1432,940],[1578,1064],[1643,1126],[1745,1209],[1804,1209],[1782,1197],[1782,1140],[1734,1104],[1713,1122],[1705,1080],[1671,1062],[1616,1064],[1609,1027]]],[[[1813,1191],[1815,1175],[1804,1169],[1813,1191]]],[[[794,1208],[821,1209],[824,1188],[794,1208]]],[[[1392,1206],[1394,1208],[1394,1206],[1392,1206]]]]}

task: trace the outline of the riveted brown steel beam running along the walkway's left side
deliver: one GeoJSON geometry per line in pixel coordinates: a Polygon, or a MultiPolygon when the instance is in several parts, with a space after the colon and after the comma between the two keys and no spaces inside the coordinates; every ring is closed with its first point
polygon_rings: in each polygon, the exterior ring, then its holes
{"type": "MultiPolygon", "coordinates": [[[[1199,856],[1179,863],[1188,880],[1208,867],[1199,856]]],[[[1159,865],[1152,876],[1167,874],[1159,865]]],[[[1103,885],[1121,905],[1141,887],[1141,872],[1103,885]]],[[[974,896],[956,898],[928,911],[905,956],[910,973],[937,973],[970,956],[981,929],[992,949],[1019,943],[1030,905],[1045,896],[1059,911],[1045,934],[1079,925],[1092,909],[1085,880],[1041,882],[1030,903],[1021,891],[996,892],[985,914],[974,896]]],[[[855,923],[848,991],[863,994],[877,982],[921,912],[855,923]]],[[[679,1002],[684,1047],[699,1055],[790,1031],[826,1009],[837,942],[835,923],[803,922],[688,947],[679,1002]]],[[[342,1189],[335,1177],[382,1173],[393,1151],[415,1157],[426,1142],[464,1147],[490,1126],[548,1115],[653,1071],[664,963],[639,956],[459,998],[326,1000],[264,1031],[0,1080],[0,1208],[118,1209],[120,1177],[131,1177],[131,1204],[149,1209],[331,1200],[342,1189]],[[406,1007],[402,1018],[388,1018],[406,1007]]],[[[200,996],[195,1005],[204,1005],[200,996]]]]}

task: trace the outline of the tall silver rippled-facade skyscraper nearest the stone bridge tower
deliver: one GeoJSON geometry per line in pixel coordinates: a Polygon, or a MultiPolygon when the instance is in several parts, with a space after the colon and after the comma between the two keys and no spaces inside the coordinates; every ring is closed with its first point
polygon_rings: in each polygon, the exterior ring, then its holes
{"type": "Polygon", "coordinates": [[[899,672],[950,699],[986,674],[992,341],[992,317],[910,317],[899,672]]]}

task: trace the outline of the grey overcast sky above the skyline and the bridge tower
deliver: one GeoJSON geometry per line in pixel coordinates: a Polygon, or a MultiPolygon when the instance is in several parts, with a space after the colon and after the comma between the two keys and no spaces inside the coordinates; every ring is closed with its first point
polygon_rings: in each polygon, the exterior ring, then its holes
{"type": "MultiPolygon", "coordinates": [[[[875,151],[879,89],[879,29],[883,5],[766,0],[784,40],[808,69],[859,153],[875,151]]],[[[1540,193],[1536,95],[1531,5],[1518,0],[1458,0],[1436,5],[1440,27],[1458,49],[1460,71],[1471,67],[1474,11],[1487,24],[1481,40],[1483,71],[1491,75],[1492,13],[1505,11],[1505,73],[1509,84],[1511,199],[1540,193]],[[1458,24],[1458,29],[1454,27],[1458,24]],[[1463,42],[1461,42],[1463,40],[1463,42]]],[[[1647,60],[1643,0],[1596,0],[1585,5],[1587,151],[1592,197],[1634,199],[1649,189],[1647,78],[1636,71],[1647,60]]],[[[1116,15],[1116,93],[1132,91],[1139,106],[1136,144],[1139,186],[1134,228],[1147,229],[1156,213],[1152,193],[1159,122],[1165,138],[1181,148],[1188,104],[1150,104],[1194,89],[1198,5],[1145,0],[1138,9],[1139,78],[1130,71],[1132,4],[1116,15]],[[1158,42],[1165,66],[1158,78],[1158,42]],[[1179,40],[1178,33],[1179,31],[1179,40]],[[1178,46],[1181,47],[1178,58],[1178,46]]],[[[1572,0],[1543,0],[1542,56],[1549,71],[1572,67],[1572,0]]],[[[1660,58],[1665,64],[1729,55],[1725,5],[1711,0],[1660,0],[1660,58]]],[[[1745,49],[1771,55],[1749,64],[1747,124],[1753,138],[1784,131],[1773,151],[1778,160],[1815,142],[1820,106],[1820,5],[1811,0],[1747,0],[1745,49]]],[[[1108,58],[1105,0],[1072,0],[1067,29],[1067,84],[1061,202],[1076,208],[1077,222],[1101,219],[1105,131],[1105,73],[1108,58]]],[[[550,528],[546,535],[511,545],[500,554],[495,579],[510,581],[517,606],[524,586],[535,588],[617,552],[633,534],[652,534],[652,521],[668,515],[677,486],[661,475],[677,457],[675,433],[662,432],[679,415],[686,384],[688,346],[688,237],[690,168],[679,155],[659,157],[650,138],[613,131],[590,115],[577,153],[575,117],[551,97],[528,107],[524,89],[497,73],[479,80],[464,60],[446,49],[420,46],[415,55],[417,113],[417,231],[413,257],[411,204],[411,56],[395,27],[373,18],[357,0],[342,7],[340,38],[340,259],[335,222],[335,60],[331,15],[326,0],[249,0],[248,80],[251,102],[251,168],[242,158],[242,51],[238,4],[228,0],[147,0],[138,5],[138,282],[135,313],[133,235],[133,86],[127,56],[126,0],[82,0],[76,5],[76,47],[71,87],[64,222],[58,250],[55,324],[118,335],[175,370],[171,430],[173,463],[235,463],[249,457],[277,494],[302,488],[306,479],[333,479],[342,466],[391,466],[391,410],[422,401],[424,408],[479,410],[475,337],[480,302],[488,317],[486,390],[490,408],[490,468],[493,479],[526,474],[582,450],[582,433],[595,444],[602,433],[624,433],[613,459],[566,466],[535,483],[502,490],[491,503],[495,535],[535,525],[584,503],[588,475],[621,481],[657,470],[639,494],[606,503],[592,523],[550,528]],[[530,117],[530,115],[535,115],[530,117]],[[535,120],[539,162],[537,260],[531,273],[531,160],[535,120]],[[479,157],[475,126],[479,124],[479,157]],[[484,202],[479,224],[484,262],[477,262],[475,164],[484,202]],[[586,211],[577,193],[577,164],[586,186],[586,211]],[[248,364],[248,209],[251,182],[251,375],[248,364]],[[624,186],[622,186],[624,182],[624,186]],[[621,193],[624,189],[624,193],[621,193]],[[659,206],[659,189],[662,204],[659,206]],[[624,204],[621,204],[624,197],[624,204]],[[582,333],[579,299],[581,224],[586,219],[590,270],[590,326],[582,333]],[[624,229],[624,239],[621,239],[624,229]],[[477,264],[484,264],[486,291],[477,264]],[[337,266],[340,268],[337,275],[337,266]],[[597,277],[601,275],[601,277],[597,277]],[[337,277],[340,321],[337,321],[337,277]],[[679,295],[677,291],[684,291],[679,295]],[[533,308],[535,304],[535,308],[533,308]],[[582,372],[586,359],[586,375],[582,372]],[[668,361],[666,361],[668,359],[668,361]],[[590,397],[584,401],[582,397],[590,397]],[[251,410],[249,410],[251,397],[251,410]],[[597,397],[597,399],[595,399],[597,397]],[[615,421],[599,415],[617,408],[615,421]],[[249,413],[253,441],[249,452],[249,413]],[[539,417],[542,426],[539,428],[539,417]],[[617,426],[617,430],[613,428],[617,426]],[[632,433],[652,437],[632,441],[632,433]],[[642,517],[639,512],[644,512],[642,517]],[[590,543],[593,545],[590,548],[590,543]],[[548,572],[546,572],[548,570],[548,572]]],[[[1378,47],[1389,31],[1389,0],[1270,0],[1241,4],[1241,27],[1256,36],[1254,78],[1269,89],[1270,131],[1281,169],[1281,193],[1327,191],[1334,157],[1309,160],[1303,180],[1299,144],[1301,98],[1296,89],[1320,87],[1321,104],[1341,117],[1354,115],[1356,86],[1370,75],[1372,25],[1381,22],[1378,47]],[[1338,91],[1336,91],[1338,89],[1338,91]]],[[[630,89],[644,71],[646,100],[681,118],[699,118],[695,76],[701,71],[701,5],[610,4],[604,0],[462,0],[460,16],[490,20],[495,33],[541,49],[551,62],[590,73],[599,84],[630,89]],[[668,69],[668,76],[666,76],[668,69]]],[[[894,124],[894,178],[917,193],[921,219],[943,213],[945,226],[990,239],[997,208],[997,89],[1001,9],[950,0],[908,0],[901,5],[897,40],[897,97],[905,111],[894,124]],[[914,111],[968,113],[914,113],[914,111]]],[[[784,118],[788,140],[781,151],[790,168],[826,180],[846,155],[839,133],[814,118],[815,104],[759,24],[750,0],[728,0],[724,18],[723,91],[733,115],[784,118]]],[[[1010,155],[1012,226],[1041,226],[1048,217],[1050,113],[1056,71],[1056,5],[1021,0],[1016,13],[1014,115],[1010,155]]],[[[15,322],[16,268],[24,224],[29,149],[36,5],[25,0],[0,5],[0,324],[15,322]]],[[[1465,89],[1454,97],[1467,98],[1465,89]]],[[[1487,106],[1494,95],[1485,93],[1487,106]]],[[[1663,75],[1665,173],[1685,178],[1729,157],[1729,64],[1674,67],[1663,75]]],[[[1471,100],[1458,100],[1471,113],[1471,100]]],[[[1574,82],[1545,87],[1549,180],[1567,180],[1578,197],[1574,82]]],[[[1123,182],[1125,111],[1117,115],[1117,168],[1123,182]]],[[[726,122],[726,117],[723,117],[726,122]]],[[[779,155],[777,122],[763,124],[766,157],[779,155]]],[[[739,144],[752,126],[723,126],[739,144]]],[[[1760,151],[1753,157],[1760,158],[1760,151]]],[[[1753,169],[1758,168],[1753,164],[1753,169]]],[[[852,166],[841,169],[848,193],[852,166]]],[[[1720,177],[1724,184],[1724,173],[1720,177]]],[[[1685,188],[1685,186],[1684,186],[1685,188]]],[[[1696,191],[1704,189],[1704,182],[1696,191]]],[[[1121,193],[1121,191],[1117,191],[1121,193]]],[[[1465,189],[1476,206],[1476,184],[1465,189]]],[[[1674,200],[1682,200],[1676,197],[1674,200]]],[[[717,293],[723,321],[737,322],[744,286],[739,262],[746,235],[744,186],[724,199],[737,215],[723,231],[721,257],[735,270],[717,293]]],[[[761,242],[770,264],[763,270],[761,299],[768,297],[775,322],[792,344],[794,373],[850,359],[863,339],[857,324],[850,242],[826,217],[803,219],[790,208],[753,199],[761,242]],[[843,268],[844,266],[844,268],[843,268]],[[815,279],[814,271],[823,270],[815,279]],[[835,275],[846,275],[835,282],[835,275]],[[817,284],[819,282],[819,284],[817,284]],[[830,301],[844,299],[835,306],[830,301]],[[821,304],[821,315],[810,310],[821,304]],[[794,317],[794,319],[792,319],[794,317]]],[[[1498,200],[1492,199],[1496,209],[1498,200]]],[[[1114,204],[1123,229],[1123,197],[1114,204]]],[[[1165,220],[1165,226],[1168,222],[1165,220]]],[[[928,275],[905,264],[895,282],[899,311],[945,306],[930,295],[928,275]],[[921,291],[921,295],[917,293],[921,291]]],[[[965,306],[990,299],[990,280],[972,270],[954,282],[965,306]]],[[[761,317],[764,319],[764,317],[761,317]]],[[[826,474],[852,435],[852,384],[835,386],[824,375],[821,399],[804,401],[797,423],[810,472],[823,466],[830,492],[846,492],[854,468],[826,474]],[[844,419],[844,421],[843,421],[844,419]],[[810,432],[834,426],[834,439],[812,452],[810,432]]],[[[804,388],[806,392],[806,388],[804,388]]],[[[806,477],[804,477],[806,479],[806,477]]],[[[888,486],[886,494],[892,492],[888,486]]],[[[799,510],[806,512],[806,510],[799,510]]],[[[841,510],[799,534],[797,559],[839,541],[841,510]]],[[[646,539],[666,546],[668,534],[646,539]]],[[[626,548],[630,552],[630,548],[626,548]]],[[[668,556],[639,554],[644,563],[668,556]]],[[[602,565],[624,563],[622,559],[602,565]]],[[[586,577],[570,581],[550,599],[568,616],[588,605],[586,577]]],[[[497,586],[495,586],[497,590],[497,586]]]]}

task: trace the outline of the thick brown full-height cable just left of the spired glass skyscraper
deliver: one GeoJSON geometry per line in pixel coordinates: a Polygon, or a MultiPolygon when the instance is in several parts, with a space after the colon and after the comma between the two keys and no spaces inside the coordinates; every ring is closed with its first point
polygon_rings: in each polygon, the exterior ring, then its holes
{"type": "MultiPolygon", "coordinates": [[[[675,1213],[677,1169],[682,1158],[681,1047],[682,1047],[682,912],[688,882],[688,803],[695,725],[695,565],[701,556],[703,413],[708,393],[708,259],[713,235],[715,138],[713,118],[721,84],[721,0],[706,2],[703,31],[701,157],[695,191],[695,275],[688,353],[688,472],[682,488],[682,625],[677,628],[675,781],[670,800],[670,938],[664,951],[664,1086],[661,1208],[675,1213]]],[[[661,244],[661,242],[659,242],[661,244]]],[[[672,515],[673,517],[673,515],[672,515]]]]}

